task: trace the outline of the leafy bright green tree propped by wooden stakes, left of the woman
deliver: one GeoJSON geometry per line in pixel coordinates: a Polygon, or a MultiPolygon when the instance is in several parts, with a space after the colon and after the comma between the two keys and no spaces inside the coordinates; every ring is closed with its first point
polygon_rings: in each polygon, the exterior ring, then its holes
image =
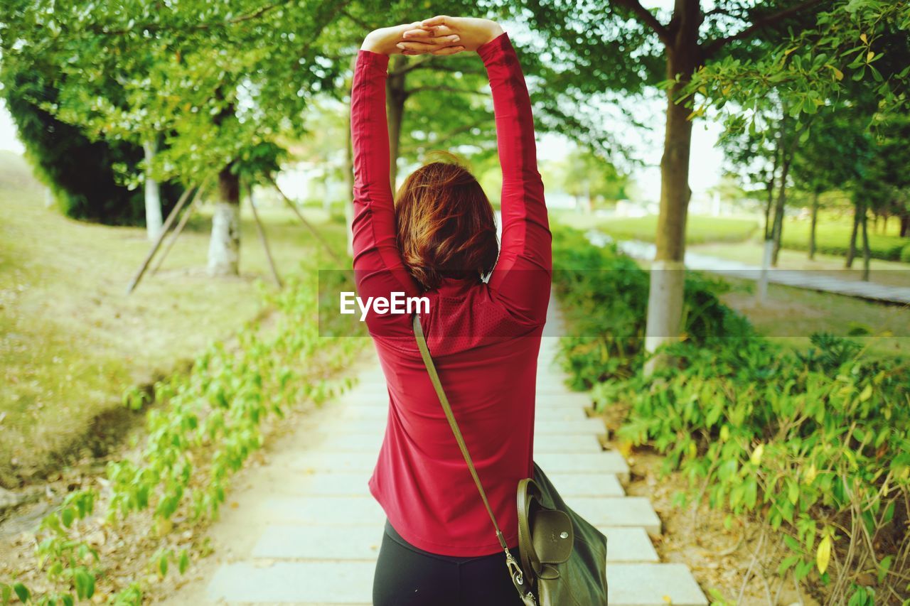
{"type": "Polygon", "coordinates": [[[45,109],[93,136],[145,142],[160,133],[148,177],[214,180],[208,268],[237,273],[239,181],[276,170],[279,138],[296,132],[310,96],[335,86],[339,69],[319,36],[346,3],[8,4],[5,69],[62,70],[64,86],[45,109]]]}

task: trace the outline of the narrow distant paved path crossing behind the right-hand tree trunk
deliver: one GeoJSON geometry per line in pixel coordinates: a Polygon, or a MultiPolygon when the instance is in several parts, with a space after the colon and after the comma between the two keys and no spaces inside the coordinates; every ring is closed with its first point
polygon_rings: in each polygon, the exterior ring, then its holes
{"type": "MultiPolygon", "coordinates": [[[[592,244],[603,246],[608,237],[602,232],[591,230],[588,237],[592,244]]],[[[638,240],[623,240],[617,244],[620,250],[632,258],[652,260],[655,247],[638,240]]],[[[689,269],[708,271],[722,276],[757,280],[761,277],[762,268],[741,261],[700,255],[687,252],[685,266],[689,269]]],[[[768,271],[768,281],[772,284],[783,284],[795,288],[830,292],[847,297],[864,298],[871,301],[910,305],[910,288],[887,286],[875,282],[863,282],[837,277],[838,270],[804,270],[775,269],[768,271]]]]}

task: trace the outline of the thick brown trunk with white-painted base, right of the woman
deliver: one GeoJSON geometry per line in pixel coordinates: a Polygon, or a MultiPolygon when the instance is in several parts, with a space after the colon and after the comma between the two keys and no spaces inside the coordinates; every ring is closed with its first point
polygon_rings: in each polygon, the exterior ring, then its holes
{"type": "MultiPolygon", "coordinates": [[[[689,157],[692,149],[691,109],[674,99],[691,80],[700,64],[698,31],[702,24],[698,0],[676,0],[676,22],[672,45],[666,48],[667,78],[675,79],[667,89],[667,125],[661,160],[661,213],[657,219],[657,253],[651,268],[648,294],[648,321],[645,349],[653,353],[664,343],[679,339],[682,332],[682,305],[685,288],[685,224],[692,190],[689,188],[689,157]]],[[[645,366],[650,374],[667,362],[652,357],[645,366]]]]}

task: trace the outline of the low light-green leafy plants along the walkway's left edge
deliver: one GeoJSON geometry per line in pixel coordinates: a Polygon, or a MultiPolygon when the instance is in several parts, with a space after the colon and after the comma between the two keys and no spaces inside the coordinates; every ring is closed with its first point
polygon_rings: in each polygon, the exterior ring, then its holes
{"type": "MultiPolygon", "coordinates": [[[[196,359],[188,375],[157,382],[155,400],[163,405],[148,411],[145,448],[136,460],[108,463],[110,495],[102,513],[115,527],[139,510],[152,511],[161,536],[167,536],[177,515],[194,522],[215,519],[231,475],[262,446],[260,426],[269,415],[283,417],[301,402],[320,404],[349,388],[350,379],[333,377],[362,341],[320,336],[315,273],[288,278],[278,292],[258,285],[264,301],[278,311],[274,329],[264,331],[250,322],[238,333],[237,348],[216,342],[196,359]]],[[[124,398],[127,406],[141,401],[132,393],[124,398]]],[[[48,580],[75,591],[78,600],[91,597],[105,570],[79,531],[95,513],[96,499],[92,489],[70,493],[62,507],[43,520],[35,551],[48,580]]],[[[186,572],[187,548],[162,547],[150,567],[164,579],[171,563],[181,574],[186,572]]],[[[64,601],[66,595],[52,593],[42,600],[64,601]]],[[[141,587],[135,584],[116,594],[112,603],[141,600],[141,587]]]]}

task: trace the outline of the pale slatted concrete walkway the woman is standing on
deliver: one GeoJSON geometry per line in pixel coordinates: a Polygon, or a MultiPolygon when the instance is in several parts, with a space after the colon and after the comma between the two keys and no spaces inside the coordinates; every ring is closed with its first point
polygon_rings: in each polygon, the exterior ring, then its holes
{"type": "MultiPolygon", "coordinates": [[[[661,563],[649,534],[661,533],[651,502],[627,497],[629,467],[601,449],[599,419],[585,396],[563,386],[543,338],[535,460],[563,498],[609,538],[611,606],[702,606],[688,568],[661,563]]],[[[315,411],[243,478],[210,530],[216,551],[200,578],[169,603],[369,604],[385,514],[369,495],[385,426],[387,393],[375,354],[358,386],[315,411]]],[[[453,438],[454,439],[454,438],[453,438]]]]}

